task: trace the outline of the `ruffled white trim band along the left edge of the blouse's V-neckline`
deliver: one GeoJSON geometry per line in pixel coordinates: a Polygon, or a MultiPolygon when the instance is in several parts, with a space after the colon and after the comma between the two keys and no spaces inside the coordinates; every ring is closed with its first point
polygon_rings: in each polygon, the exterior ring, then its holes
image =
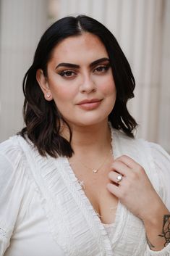
{"type": "MultiPolygon", "coordinates": [[[[66,158],[62,158],[61,165],[64,165],[64,171],[61,173],[61,176],[63,177],[65,185],[69,187],[69,191],[72,193],[72,197],[75,199],[78,209],[82,210],[80,214],[80,219],[83,218],[85,220],[83,225],[87,226],[88,223],[87,236],[85,239],[82,239],[80,243],[84,243],[84,241],[87,241],[91,249],[97,249],[98,252],[102,253],[102,255],[113,255],[107,232],[101,224],[101,220],[100,218],[98,218],[98,214],[95,212],[93,206],[90,204],[88,197],[85,196],[85,192],[82,190],[80,182],[75,177],[75,173],[72,171],[68,160],[66,158]],[[74,185],[72,185],[73,183],[74,185]],[[89,234],[89,228],[91,234],[89,234]]],[[[73,224],[75,225],[75,223],[73,224]]],[[[77,230],[77,226],[74,226],[72,228],[75,228],[75,231],[77,230]]],[[[80,248],[82,247],[83,244],[80,244],[80,248]]],[[[95,255],[98,252],[94,251],[91,255],[95,255]]]]}

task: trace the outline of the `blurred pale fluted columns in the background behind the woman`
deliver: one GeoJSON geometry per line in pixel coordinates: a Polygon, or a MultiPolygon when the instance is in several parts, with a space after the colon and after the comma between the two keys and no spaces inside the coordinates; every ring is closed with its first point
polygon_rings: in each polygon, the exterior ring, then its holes
{"type": "Polygon", "coordinates": [[[0,0],[0,141],[24,125],[22,78],[42,33],[55,20],[79,14],[103,22],[129,60],[137,137],[170,152],[170,0],[0,0]]]}

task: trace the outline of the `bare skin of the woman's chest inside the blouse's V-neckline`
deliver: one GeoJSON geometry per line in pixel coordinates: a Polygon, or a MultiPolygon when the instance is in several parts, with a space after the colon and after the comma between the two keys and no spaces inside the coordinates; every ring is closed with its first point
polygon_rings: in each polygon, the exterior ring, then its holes
{"type": "Polygon", "coordinates": [[[118,205],[118,199],[106,189],[106,184],[110,182],[108,174],[111,170],[111,161],[112,159],[97,173],[86,170],[81,165],[73,169],[85,196],[102,223],[114,223],[118,205]]]}

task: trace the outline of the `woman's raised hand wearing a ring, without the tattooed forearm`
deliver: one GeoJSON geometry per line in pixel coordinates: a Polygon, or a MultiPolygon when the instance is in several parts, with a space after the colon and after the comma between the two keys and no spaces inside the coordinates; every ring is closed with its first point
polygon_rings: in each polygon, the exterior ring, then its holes
{"type": "Polygon", "coordinates": [[[119,198],[120,202],[137,217],[145,220],[156,210],[156,202],[161,204],[150,180],[141,165],[132,158],[123,155],[117,158],[109,173],[111,183],[107,185],[109,191],[119,198]],[[116,177],[122,175],[122,181],[116,177]],[[152,209],[153,208],[153,209],[152,209]]]}

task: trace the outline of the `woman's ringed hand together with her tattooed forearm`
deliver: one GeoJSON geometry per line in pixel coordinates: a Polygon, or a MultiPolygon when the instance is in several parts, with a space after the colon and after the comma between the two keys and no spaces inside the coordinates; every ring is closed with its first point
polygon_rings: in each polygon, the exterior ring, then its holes
{"type": "Polygon", "coordinates": [[[169,216],[170,220],[170,213],[150,183],[143,167],[132,158],[123,155],[111,165],[109,178],[111,183],[107,184],[107,189],[130,212],[143,220],[150,248],[162,249],[167,244],[166,237],[163,237],[163,226],[166,226],[164,216],[169,216]],[[122,176],[121,181],[116,179],[119,175],[122,176]]]}

